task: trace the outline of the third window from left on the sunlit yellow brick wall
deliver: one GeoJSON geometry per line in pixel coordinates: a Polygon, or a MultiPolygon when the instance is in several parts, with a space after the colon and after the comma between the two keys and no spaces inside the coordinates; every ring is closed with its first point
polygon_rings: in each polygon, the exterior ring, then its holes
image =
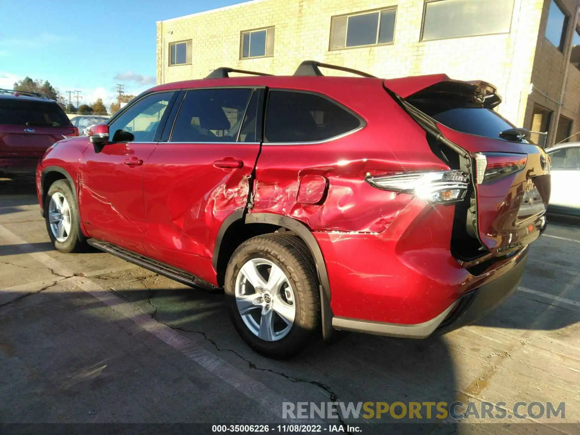
{"type": "Polygon", "coordinates": [[[332,18],[330,49],[392,44],[397,8],[332,18]]]}

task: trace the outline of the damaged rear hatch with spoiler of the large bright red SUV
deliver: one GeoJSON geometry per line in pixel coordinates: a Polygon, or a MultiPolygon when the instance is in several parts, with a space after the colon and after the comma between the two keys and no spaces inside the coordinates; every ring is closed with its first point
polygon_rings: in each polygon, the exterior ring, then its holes
{"type": "Polygon", "coordinates": [[[527,132],[514,131],[494,111],[501,103],[494,86],[435,75],[385,81],[385,87],[426,129],[434,153],[470,174],[470,191],[456,204],[456,258],[474,266],[539,237],[550,199],[548,158],[527,132]]]}

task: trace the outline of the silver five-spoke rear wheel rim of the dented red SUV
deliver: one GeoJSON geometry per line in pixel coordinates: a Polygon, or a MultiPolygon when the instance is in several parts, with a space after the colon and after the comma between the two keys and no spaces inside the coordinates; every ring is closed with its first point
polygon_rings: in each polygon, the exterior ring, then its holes
{"type": "Polygon", "coordinates": [[[235,278],[235,302],[252,333],[269,342],[288,335],[296,317],[294,292],[288,278],[270,260],[248,260],[235,278]]]}

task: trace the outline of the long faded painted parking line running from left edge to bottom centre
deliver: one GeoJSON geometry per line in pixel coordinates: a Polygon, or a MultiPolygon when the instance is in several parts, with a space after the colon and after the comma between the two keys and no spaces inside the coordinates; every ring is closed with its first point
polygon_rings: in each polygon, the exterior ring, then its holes
{"type": "MultiPolygon", "coordinates": [[[[143,311],[128,305],[125,300],[118,298],[113,293],[100,287],[100,285],[88,278],[74,276],[73,271],[46,253],[34,252],[34,248],[30,244],[2,225],[0,225],[0,237],[4,238],[10,244],[16,245],[22,252],[28,253],[32,258],[44,264],[49,269],[52,269],[55,273],[69,277],[67,280],[61,282],[74,282],[78,288],[89,293],[89,295],[92,295],[96,299],[99,299],[125,318],[132,320],[139,325],[139,327],[156,336],[158,339],[173,347],[173,349],[176,349],[187,358],[190,358],[197,364],[201,365],[201,367],[211,372],[217,378],[223,380],[223,382],[234,387],[236,390],[240,391],[240,393],[244,394],[244,396],[255,401],[261,407],[271,412],[273,415],[276,415],[279,419],[292,420],[291,418],[282,418],[282,403],[288,402],[289,400],[281,397],[262,383],[252,379],[248,375],[245,375],[228,362],[222,360],[222,358],[203,349],[201,346],[198,346],[192,340],[181,335],[174,329],[158,322],[151,316],[148,316],[148,314],[143,313],[143,311]]],[[[322,423],[322,420],[317,419],[317,421],[313,421],[313,423],[320,424],[322,423]]]]}

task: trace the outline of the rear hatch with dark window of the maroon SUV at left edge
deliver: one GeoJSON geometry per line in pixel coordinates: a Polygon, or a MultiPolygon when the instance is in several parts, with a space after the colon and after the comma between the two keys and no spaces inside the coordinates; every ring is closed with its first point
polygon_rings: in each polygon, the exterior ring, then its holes
{"type": "Polygon", "coordinates": [[[77,129],[52,100],[0,98],[0,158],[42,157],[63,136],[77,135],[77,129]]]}

